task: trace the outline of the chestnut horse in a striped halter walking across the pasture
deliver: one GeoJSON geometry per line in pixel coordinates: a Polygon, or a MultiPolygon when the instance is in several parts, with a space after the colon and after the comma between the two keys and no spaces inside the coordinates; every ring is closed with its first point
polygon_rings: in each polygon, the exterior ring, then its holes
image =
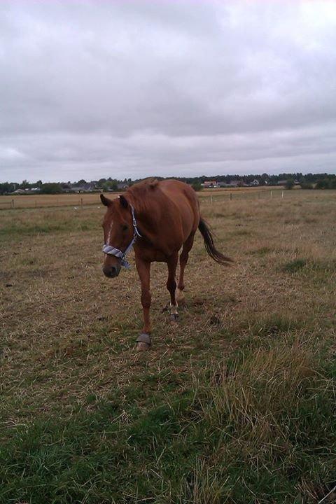
{"type": "Polygon", "coordinates": [[[121,267],[129,267],[125,256],[134,246],[144,310],[144,328],[137,338],[137,349],[146,350],[151,346],[151,262],[167,262],[171,318],[177,321],[178,302],[182,303],[184,299],[184,269],[197,228],[212,259],[221,264],[232,260],[216,250],[211,232],[200,216],[197,195],[186,183],[147,180],[134,184],[115,200],[109,200],[104,195],[100,198],[107,207],[103,221],[104,274],[114,278],[121,267]],[[176,288],[175,273],[181,247],[180,276],[176,288]]]}

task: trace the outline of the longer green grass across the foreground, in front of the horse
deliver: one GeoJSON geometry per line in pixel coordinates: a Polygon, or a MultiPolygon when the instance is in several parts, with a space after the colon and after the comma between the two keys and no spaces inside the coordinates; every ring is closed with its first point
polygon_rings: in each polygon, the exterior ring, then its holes
{"type": "MultiPolygon", "coordinates": [[[[1,503],[293,503],[335,477],[335,367],[307,348],[244,351],[153,391],[87,396],[10,429],[1,503]],[[259,501],[258,500],[258,501],[259,501]]],[[[148,388],[149,384],[149,388],[148,388]]],[[[307,500],[314,502],[314,500],[307,500]]]]}

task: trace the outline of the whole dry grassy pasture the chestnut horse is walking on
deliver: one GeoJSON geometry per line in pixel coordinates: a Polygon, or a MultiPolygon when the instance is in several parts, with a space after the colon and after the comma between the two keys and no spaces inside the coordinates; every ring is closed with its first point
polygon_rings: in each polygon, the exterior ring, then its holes
{"type": "MultiPolygon", "coordinates": [[[[0,503],[317,503],[336,485],[336,193],[201,197],[177,327],[104,278],[104,209],[0,212],[0,503]]],[[[323,502],[335,502],[335,493],[323,502]]]]}

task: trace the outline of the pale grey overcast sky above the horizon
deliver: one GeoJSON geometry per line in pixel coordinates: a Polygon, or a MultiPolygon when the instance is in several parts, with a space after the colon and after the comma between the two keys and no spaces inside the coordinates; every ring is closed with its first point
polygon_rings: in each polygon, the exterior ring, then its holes
{"type": "Polygon", "coordinates": [[[1,1],[0,181],[336,173],[336,2],[1,1]]]}

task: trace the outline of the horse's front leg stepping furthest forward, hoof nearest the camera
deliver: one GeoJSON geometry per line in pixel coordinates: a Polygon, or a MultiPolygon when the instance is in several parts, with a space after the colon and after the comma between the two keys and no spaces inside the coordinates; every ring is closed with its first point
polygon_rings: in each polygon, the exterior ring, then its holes
{"type": "Polygon", "coordinates": [[[151,321],[149,318],[149,309],[151,307],[150,276],[151,262],[146,262],[135,258],[135,264],[141,281],[141,304],[144,311],[144,327],[137,338],[137,350],[148,350],[151,346],[151,321]]]}

